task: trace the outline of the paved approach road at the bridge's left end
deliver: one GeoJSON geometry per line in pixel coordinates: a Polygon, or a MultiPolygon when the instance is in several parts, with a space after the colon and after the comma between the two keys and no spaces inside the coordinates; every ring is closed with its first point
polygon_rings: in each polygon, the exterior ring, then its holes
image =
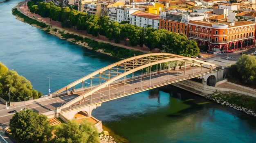
{"type": "MultiPolygon", "coordinates": [[[[26,104],[27,108],[32,109],[33,111],[36,112],[45,112],[48,110],[53,110],[56,107],[61,106],[61,104],[65,104],[67,102],[69,102],[70,100],[76,98],[78,95],[66,95],[66,96],[62,96],[59,98],[51,98],[51,99],[47,99],[44,101],[40,101],[40,102],[33,102],[30,104],[26,104]]],[[[24,102],[23,102],[24,103],[24,102]]],[[[21,111],[20,109],[24,108],[24,104],[23,105],[17,105],[17,106],[11,106],[9,107],[8,110],[6,109],[0,109],[0,124],[9,124],[9,120],[12,118],[12,116],[14,115],[14,113],[9,114],[9,111],[21,111]]]]}

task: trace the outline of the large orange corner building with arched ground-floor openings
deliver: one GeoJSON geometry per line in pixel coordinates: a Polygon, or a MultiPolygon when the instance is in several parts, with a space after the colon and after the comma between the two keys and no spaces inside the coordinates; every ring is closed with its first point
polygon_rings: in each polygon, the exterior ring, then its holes
{"type": "Polygon", "coordinates": [[[232,51],[255,45],[254,22],[189,21],[189,39],[195,39],[205,50],[232,51]]]}

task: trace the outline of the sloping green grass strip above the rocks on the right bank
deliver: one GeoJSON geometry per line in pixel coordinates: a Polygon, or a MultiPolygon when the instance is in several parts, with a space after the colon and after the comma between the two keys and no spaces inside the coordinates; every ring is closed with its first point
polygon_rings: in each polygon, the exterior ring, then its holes
{"type": "Polygon", "coordinates": [[[235,93],[220,93],[218,95],[212,95],[211,97],[222,98],[222,100],[228,101],[231,104],[248,108],[256,112],[256,98],[245,95],[237,95],[235,93]]]}

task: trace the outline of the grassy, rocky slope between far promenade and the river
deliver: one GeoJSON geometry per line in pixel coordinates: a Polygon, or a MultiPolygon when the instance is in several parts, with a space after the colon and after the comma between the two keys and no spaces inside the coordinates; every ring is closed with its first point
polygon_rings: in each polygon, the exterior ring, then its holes
{"type": "Polygon", "coordinates": [[[94,50],[96,52],[101,52],[103,54],[108,54],[109,56],[114,56],[121,59],[128,58],[134,55],[145,54],[144,52],[141,52],[141,51],[122,48],[122,47],[110,44],[108,42],[99,42],[97,40],[90,39],[84,35],[79,35],[74,32],[70,32],[69,30],[61,29],[52,25],[47,25],[44,22],[39,22],[38,20],[32,19],[31,17],[24,15],[24,13],[21,13],[18,9],[18,6],[16,6],[13,9],[12,13],[14,16],[16,16],[18,20],[22,22],[30,24],[31,26],[39,28],[40,30],[44,30],[45,32],[51,35],[54,35],[56,37],[59,37],[60,39],[65,39],[72,43],[81,45],[87,49],[94,50]]]}

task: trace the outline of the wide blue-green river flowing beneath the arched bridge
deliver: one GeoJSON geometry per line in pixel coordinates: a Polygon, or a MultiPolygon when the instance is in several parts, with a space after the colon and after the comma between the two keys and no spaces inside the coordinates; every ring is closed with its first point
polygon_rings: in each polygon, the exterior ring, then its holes
{"type": "MultiPolygon", "coordinates": [[[[31,81],[57,89],[118,61],[16,20],[20,0],[0,3],[0,61],[31,81]]],[[[253,143],[256,118],[171,85],[103,103],[92,115],[132,143],[253,143]]]]}

